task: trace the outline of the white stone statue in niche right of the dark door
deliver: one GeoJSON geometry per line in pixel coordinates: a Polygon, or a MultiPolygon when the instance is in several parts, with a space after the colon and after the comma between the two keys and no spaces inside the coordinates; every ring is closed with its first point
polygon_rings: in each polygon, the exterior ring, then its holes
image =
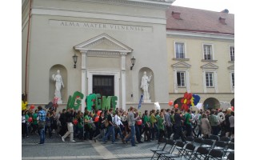
{"type": "Polygon", "coordinates": [[[149,82],[151,79],[152,75],[149,77],[146,75],[146,71],[144,71],[143,76],[142,76],[142,83],[141,83],[141,88],[143,90],[143,102],[151,102],[150,100],[150,93],[149,93],[149,82]]]}

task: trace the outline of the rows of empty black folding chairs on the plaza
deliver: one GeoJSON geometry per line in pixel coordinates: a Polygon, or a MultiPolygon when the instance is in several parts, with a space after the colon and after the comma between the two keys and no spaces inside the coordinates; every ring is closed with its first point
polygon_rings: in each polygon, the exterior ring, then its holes
{"type": "Polygon", "coordinates": [[[185,158],[189,159],[222,159],[227,156],[227,159],[234,159],[234,142],[219,141],[223,139],[202,139],[187,137],[187,144],[171,139],[162,138],[162,142],[158,144],[156,149],[151,151],[154,153],[151,159],[174,159],[185,158]],[[196,146],[198,148],[195,150],[196,146]],[[166,149],[168,148],[168,149],[166,149]],[[178,154],[173,154],[174,149],[178,150],[178,154]],[[233,157],[232,157],[233,156],[233,157]]]}

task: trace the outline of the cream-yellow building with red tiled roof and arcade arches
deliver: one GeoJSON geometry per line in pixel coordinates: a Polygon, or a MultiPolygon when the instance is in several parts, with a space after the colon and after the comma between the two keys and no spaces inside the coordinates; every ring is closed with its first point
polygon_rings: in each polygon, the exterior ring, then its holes
{"type": "Polygon", "coordinates": [[[178,6],[166,12],[174,103],[187,91],[201,97],[204,109],[234,106],[234,14],[225,12],[178,6]]]}

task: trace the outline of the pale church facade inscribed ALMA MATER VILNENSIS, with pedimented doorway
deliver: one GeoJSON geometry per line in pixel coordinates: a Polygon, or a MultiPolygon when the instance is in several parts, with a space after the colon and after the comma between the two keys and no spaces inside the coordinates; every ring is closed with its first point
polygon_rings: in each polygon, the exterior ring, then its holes
{"type": "MultiPolygon", "coordinates": [[[[62,106],[75,91],[92,94],[94,89],[101,90],[94,80],[100,84],[106,80],[118,97],[118,107],[126,110],[138,105],[146,71],[153,75],[151,102],[166,104],[166,10],[172,2],[22,1],[22,92],[27,94],[27,101],[34,105],[52,101],[54,82],[50,77],[60,70],[65,84],[62,106]],[[74,54],[78,56],[76,68],[74,54]],[[132,57],[136,62],[130,70],[132,57]]],[[[142,107],[153,108],[154,103],[142,107]]]]}

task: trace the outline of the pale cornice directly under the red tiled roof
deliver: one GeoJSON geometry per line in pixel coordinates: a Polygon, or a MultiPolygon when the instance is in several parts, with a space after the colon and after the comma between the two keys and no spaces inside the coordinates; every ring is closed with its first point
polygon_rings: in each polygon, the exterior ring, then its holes
{"type": "Polygon", "coordinates": [[[223,40],[233,40],[234,35],[232,34],[216,34],[216,33],[202,33],[202,32],[192,32],[192,31],[178,31],[178,30],[166,30],[167,37],[173,36],[186,36],[191,38],[215,38],[223,40]]]}

